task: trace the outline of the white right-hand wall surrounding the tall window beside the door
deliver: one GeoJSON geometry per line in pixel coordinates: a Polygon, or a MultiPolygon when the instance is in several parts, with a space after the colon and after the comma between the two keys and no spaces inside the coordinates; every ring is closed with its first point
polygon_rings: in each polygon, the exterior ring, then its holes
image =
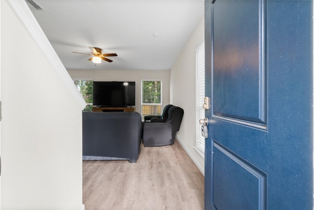
{"type": "Polygon", "coordinates": [[[170,70],[170,103],[184,110],[177,139],[204,174],[204,158],[195,146],[195,50],[205,39],[204,18],[186,43],[180,57],[170,70]]]}

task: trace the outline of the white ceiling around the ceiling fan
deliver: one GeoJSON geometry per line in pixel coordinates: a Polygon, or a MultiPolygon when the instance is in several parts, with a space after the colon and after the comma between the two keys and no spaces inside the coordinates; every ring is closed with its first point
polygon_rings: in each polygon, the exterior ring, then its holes
{"type": "Polygon", "coordinates": [[[169,70],[204,16],[204,0],[33,0],[27,2],[66,69],[169,70]],[[87,61],[88,47],[116,53],[87,61]]]}

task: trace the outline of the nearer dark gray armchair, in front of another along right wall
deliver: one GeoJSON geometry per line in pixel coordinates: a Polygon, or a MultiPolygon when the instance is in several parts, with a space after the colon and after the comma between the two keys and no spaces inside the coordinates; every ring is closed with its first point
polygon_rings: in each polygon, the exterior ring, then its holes
{"type": "Polygon", "coordinates": [[[144,122],[142,141],[144,147],[172,145],[179,131],[184,111],[171,106],[165,122],[144,122]]]}

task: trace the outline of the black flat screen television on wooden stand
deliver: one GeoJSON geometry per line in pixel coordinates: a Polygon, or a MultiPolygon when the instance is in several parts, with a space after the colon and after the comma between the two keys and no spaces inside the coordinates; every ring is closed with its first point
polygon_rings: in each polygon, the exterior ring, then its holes
{"type": "Polygon", "coordinates": [[[93,82],[93,105],[135,106],[135,82],[93,82]]]}

